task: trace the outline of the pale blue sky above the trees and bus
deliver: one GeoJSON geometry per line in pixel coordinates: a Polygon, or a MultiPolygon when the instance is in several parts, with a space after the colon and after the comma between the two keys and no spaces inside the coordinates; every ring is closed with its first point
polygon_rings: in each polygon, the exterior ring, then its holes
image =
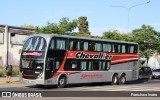
{"type": "Polygon", "coordinates": [[[160,0],[1,0],[0,24],[45,26],[47,21],[58,23],[86,16],[91,35],[101,36],[108,30],[128,32],[151,25],[160,31],[160,0]],[[139,5],[142,4],[142,5],[139,5]],[[123,7],[111,7],[123,6],[123,7]],[[129,11],[128,9],[135,6],[129,11]],[[129,23],[129,25],[128,25],[129,23]]]}

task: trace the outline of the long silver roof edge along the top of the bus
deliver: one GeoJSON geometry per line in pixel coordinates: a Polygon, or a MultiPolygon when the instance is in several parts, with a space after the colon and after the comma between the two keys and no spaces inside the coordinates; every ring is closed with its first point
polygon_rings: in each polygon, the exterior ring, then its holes
{"type": "Polygon", "coordinates": [[[61,38],[70,38],[70,39],[83,39],[89,41],[98,41],[98,42],[114,42],[114,43],[124,43],[124,44],[135,44],[138,45],[136,42],[128,42],[122,40],[107,40],[107,39],[99,39],[99,38],[87,38],[87,37],[78,37],[78,36],[70,36],[70,35],[59,35],[59,34],[34,34],[32,36],[42,36],[44,38],[52,38],[52,37],[61,37],[61,38]]]}

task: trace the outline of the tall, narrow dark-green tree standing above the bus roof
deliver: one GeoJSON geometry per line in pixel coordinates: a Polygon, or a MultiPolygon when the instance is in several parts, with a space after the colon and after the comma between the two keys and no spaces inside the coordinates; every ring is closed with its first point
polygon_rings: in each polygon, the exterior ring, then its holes
{"type": "Polygon", "coordinates": [[[78,24],[79,24],[78,29],[80,34],[90,35],[89,29],[88,29],[89,25],[88,25],[87,17],[85,16],[79,17],[78,24]]]}

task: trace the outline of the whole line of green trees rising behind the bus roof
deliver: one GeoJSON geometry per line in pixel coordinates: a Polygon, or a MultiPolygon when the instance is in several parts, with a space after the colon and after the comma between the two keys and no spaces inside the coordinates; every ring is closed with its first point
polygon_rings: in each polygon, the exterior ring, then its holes
{"type": "MultiPolygon", "coordinates": [[[[152,52],[160,53],[160,32],[154,30],[149,25],[142,25],[140,29],[135,29],[132,34],[120,33],[117,30],[104,32],[103,36],[91,36],[89,32],[89,22],[87,17],[81,16],[75,20],[70,21],[69,18],[64,17],[58,23],[47,22],[46,26],[38,27],[33,25],[22,25],[25,28],[34,28],[36,33],[56,33],[72,36],[102,38],[107,40],[122,40],[133,41],[139,44],[140,56],[148,57],[152,52]],[[73,32],[78,27],[79,32],[73,32]]],[[[0,57],[1,59],[1,57],[0,57]]]]}

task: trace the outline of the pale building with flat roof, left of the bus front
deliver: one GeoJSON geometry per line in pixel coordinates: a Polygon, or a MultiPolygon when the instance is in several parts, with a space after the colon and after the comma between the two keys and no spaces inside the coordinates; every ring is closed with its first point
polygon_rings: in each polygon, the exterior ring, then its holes
{"type": "Polygon", "coordinates": [[[19,66],[23,43],[33,33],[34,29],[0,25],[0,66],[19,66]]]}

